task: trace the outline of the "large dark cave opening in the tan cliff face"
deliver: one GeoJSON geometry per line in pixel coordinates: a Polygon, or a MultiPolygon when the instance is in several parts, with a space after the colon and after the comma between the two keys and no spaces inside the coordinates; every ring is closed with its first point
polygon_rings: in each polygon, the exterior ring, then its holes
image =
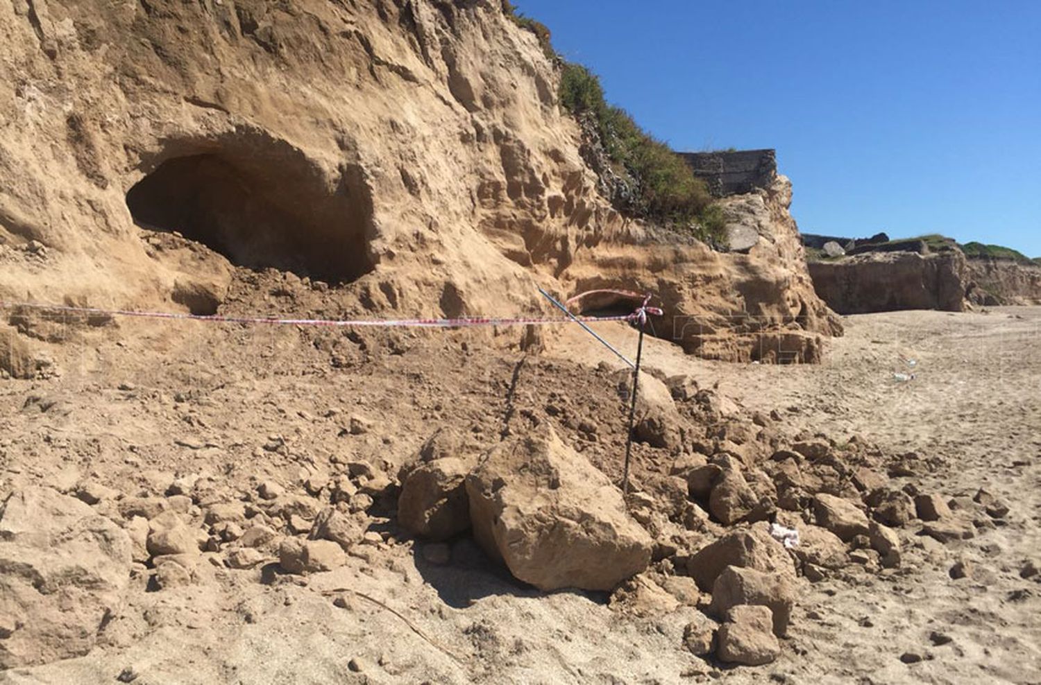
{"type": "Polygon", "coordinates": [[[373,268],[364,187],[350,174],[331,187],[313,164],[284,149],[169,156],[130,188],[126,203],[138,227],[179,232],[237,266],[329,283],[373,268]]]}

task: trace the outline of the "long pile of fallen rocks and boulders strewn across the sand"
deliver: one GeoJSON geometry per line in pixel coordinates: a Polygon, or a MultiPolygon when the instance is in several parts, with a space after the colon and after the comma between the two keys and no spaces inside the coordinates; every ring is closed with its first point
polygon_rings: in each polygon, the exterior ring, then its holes
{"type": "MultiPolygon", "coordinates": [[[[321,573],[414,538],[443,564],[439,544],[461,535],[542,590],[611,592],[637,614],[696,607],[691,652],[762,664],[780,653],[801,583],[898,573],[910,535],[947,543],[1008,513],[983,491],[918,492],[930,464],[916,454],[785,438],[779,414],[725,416],[688,378],[642,383],[628,501],[595,450],[577,451],[568,422],[550,420],[559,409],[490,449],[441,428],[397,473],[334,459],[291,484],[166,474],[134,493],[90,480],[17,491],[0,509],[0,666],[90,651],[134,579],[163,591],[219,574],[321,573]]],[[[574,430],[595,443],[596,426],[574,430]]]]}

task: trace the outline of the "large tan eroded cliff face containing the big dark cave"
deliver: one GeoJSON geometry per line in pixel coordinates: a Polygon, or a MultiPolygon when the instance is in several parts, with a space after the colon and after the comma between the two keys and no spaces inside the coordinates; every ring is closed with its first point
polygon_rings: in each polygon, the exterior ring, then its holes
{"type": "Polygon", "coordinates": [[[0,63],[0,297],[209,314],[275,269],[337,314],[650,289],[663,337],[728,360],[815,361],[840,332],[787,180],[726,201],[747,254],[624,219],[497,2],[16,0],[0,63]]]}

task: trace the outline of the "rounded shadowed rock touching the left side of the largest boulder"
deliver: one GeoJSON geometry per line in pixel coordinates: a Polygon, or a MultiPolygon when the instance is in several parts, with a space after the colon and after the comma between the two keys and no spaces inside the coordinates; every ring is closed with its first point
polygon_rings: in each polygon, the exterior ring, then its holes
{"type": "Polygon", "coordinates": [[[469,528],[466,474],[471,467],[458,457],[418,465],[406,476],[398,499],[398,522],[429,539],[448,539],[469,528]]]}

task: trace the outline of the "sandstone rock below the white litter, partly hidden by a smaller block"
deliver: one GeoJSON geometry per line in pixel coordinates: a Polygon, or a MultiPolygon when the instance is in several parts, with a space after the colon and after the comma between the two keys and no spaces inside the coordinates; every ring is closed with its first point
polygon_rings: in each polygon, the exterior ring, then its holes
{"type": "Polygon", "coordinates": [[[712,591],[716,578],[727,567],[795,576],[788,552],[763,524],[725,535],[687,559],[687,573],[706,592],[712,591]]]}

